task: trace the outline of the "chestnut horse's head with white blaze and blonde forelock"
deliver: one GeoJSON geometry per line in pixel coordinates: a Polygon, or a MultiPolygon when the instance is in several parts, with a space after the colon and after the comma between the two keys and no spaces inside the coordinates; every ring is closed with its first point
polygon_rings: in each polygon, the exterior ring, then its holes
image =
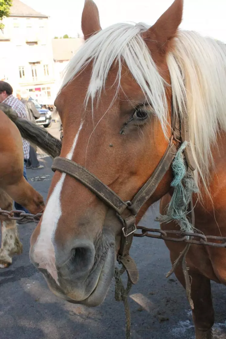
{"type": "MultiPolygon", "coordinates": [[[[154,173],[172,135],[168,57],[182,20],[183,1],[151,26],[101,29],[86,0],[85,42],[69,63],[55,100],[63,125],[60,156],[85,167],[123,201],[154,173]]],[[[173,62],[173,60],[171,60],[173,62]]],[[[136,214],[170,190],[171,168],[136,214]]],[[[30,257],[51,290],[89,306],[100,304],[114,274],[122,224],[111,206],[72,176],[55,171],[30,257]]]]}

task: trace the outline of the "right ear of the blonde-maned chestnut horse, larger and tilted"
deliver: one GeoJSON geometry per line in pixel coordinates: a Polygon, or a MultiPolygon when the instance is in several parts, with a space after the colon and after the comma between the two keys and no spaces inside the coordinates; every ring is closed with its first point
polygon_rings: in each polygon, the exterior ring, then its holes
{"type": "Polygon", "coordinates": [[[182,21],[183,3],[183,0],[175,0],[156,23],[148,31],[144,32],[143,38],[149,49],[153,46],[153,42],[155,42],[158,51],[162,55],[166,54],[169,43],[176,37],[178,26],[182,21]]]}

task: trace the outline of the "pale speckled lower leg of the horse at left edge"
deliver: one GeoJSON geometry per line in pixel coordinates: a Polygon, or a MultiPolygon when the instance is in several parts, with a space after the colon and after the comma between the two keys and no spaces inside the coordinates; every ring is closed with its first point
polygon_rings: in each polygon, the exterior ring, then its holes
{"type": "MultiPolygon", "coordinates": [[[[0,207],[2,210],[11,211],[13,200],[0,189],[0,207]]],[[[0,268],[8,267],[12,264],[12,257],[21,254],[23,246],[18,237],[16,220],[10,220],[7,216],[0,215],[2,242],[0,248],[0,268]]]]}

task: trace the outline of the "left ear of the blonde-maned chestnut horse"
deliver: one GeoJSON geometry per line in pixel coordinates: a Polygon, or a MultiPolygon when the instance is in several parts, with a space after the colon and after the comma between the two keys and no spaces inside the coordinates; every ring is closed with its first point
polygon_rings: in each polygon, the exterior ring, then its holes
{"type": "Polygon", "coordinates": [[[85,40],[92,34],[101,31],[99,11],[92,0],[85,0],[82,11],[81,28],[85,40]]]}

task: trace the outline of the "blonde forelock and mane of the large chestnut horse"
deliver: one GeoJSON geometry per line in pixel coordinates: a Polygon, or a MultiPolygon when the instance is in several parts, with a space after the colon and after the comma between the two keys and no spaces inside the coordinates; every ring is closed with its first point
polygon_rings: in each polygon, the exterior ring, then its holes
{"type": "MultiPolygon", "coordinates": [[[[142,33],[149,26],[116,24],[88,39],[70,61],[62,87],[93,62],[86,102],[97,102],[112,64],[119,65],[115,98],[120,88],[122,63],[144,92],[166,135],[168,118],[164,79],[159,75],[142,33]]],[[[220,130],[226,132],[226,45],[195,32],[179,31],[174,49],[167,55],[175,113],[188,112],[190,140],[197,165],[196,179],[208,189],[211,146],[220,130]]]]}

